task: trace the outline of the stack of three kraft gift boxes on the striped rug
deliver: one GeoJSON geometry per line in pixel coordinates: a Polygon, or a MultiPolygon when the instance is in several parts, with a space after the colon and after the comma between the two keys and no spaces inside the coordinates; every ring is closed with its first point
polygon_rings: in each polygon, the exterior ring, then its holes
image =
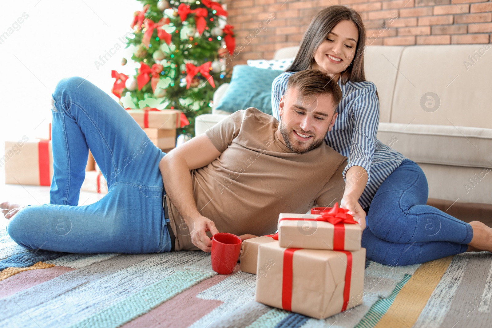
{"type": "Polygon", "coordinates": [[[362,303],[361,237],[338,204],[320,215],[281,213],[277,234],[243,241],[241,270],[257,275],[256,301],[325,319],[362,303]]]}

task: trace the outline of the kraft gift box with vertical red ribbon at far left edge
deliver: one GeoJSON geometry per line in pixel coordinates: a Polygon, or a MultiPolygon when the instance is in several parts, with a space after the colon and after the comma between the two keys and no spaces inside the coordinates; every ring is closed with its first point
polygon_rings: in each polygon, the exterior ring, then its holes
{"type": "Polygon", "coordinates": [[[23,140],[5,141],[5,155],[0,159],[5,166],[5,183],[51,185],[51,140],[23,140]]]}

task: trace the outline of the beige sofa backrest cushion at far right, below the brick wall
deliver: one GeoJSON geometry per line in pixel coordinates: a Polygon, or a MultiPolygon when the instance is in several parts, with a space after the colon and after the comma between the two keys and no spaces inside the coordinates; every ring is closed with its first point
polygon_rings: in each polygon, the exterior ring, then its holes
{"type": "Polygon", "coordinates": [[[405,47],[398,71],[390,122],[492,128],[491,44],[405,47]]]}

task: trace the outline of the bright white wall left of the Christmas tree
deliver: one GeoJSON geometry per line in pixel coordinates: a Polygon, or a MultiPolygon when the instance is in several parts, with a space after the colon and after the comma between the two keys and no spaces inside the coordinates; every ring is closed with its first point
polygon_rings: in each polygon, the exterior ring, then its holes
{"type": "Polygon", "coordinates": [[[121,65],[123,57],[130,61],[131,48],[119,38],[131,32],[133,12],[141,8],[136,0],[2,1],[0,34],[12,32],[23,14],[28,18],[0,44],[1,155],[6,139],[47,135],[51,94],[60,79],[87,78],[111,94],[111,70],[132,73],[130,62],[121,65]],[[115,44],[121,49],[96,68],[94,61],[115,44]]]}

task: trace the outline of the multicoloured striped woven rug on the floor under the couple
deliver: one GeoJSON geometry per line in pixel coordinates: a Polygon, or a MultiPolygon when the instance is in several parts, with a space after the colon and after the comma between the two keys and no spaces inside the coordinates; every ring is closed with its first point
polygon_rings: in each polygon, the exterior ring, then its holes
{"type": "Polygon", "coordinates": [[[368,261],[364,303],[316,320],[255,302],[255,275],[239,265],[216,274],[201,251],[28,251],[3,229],[0,327],[481,327],[491,318],[491,260],[468,253],[421,266],[368,261]]]}

